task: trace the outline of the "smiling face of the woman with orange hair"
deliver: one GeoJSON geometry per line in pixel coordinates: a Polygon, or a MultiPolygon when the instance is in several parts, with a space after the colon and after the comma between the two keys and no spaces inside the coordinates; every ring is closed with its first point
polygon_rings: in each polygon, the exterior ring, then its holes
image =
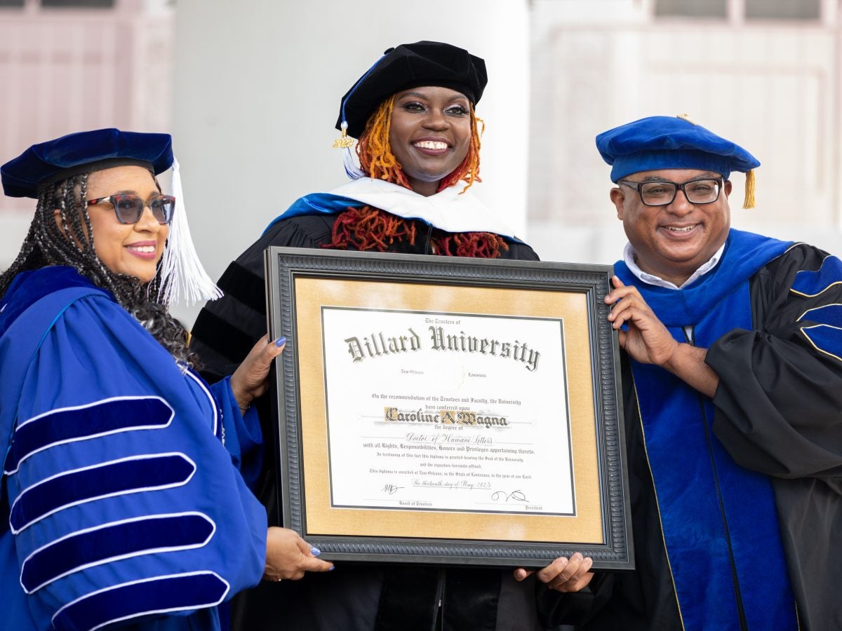
{"type": "Polygon", "coordinates": [[[471,103],[447,87],[413,87],[395,95],[389,145],[418,194],[435,194],[465,160],[471,144],[471,103]]]}

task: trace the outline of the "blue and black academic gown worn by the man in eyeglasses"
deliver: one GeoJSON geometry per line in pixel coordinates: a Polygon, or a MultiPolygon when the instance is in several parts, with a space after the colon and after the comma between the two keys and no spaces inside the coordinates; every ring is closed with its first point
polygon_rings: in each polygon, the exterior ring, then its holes
{"type": "Polygon", "coordinates": [[[557,603],[581,631],[842,628],[842,261],[731,230],[718,266],[665,289],[615,266],[713,398],[623,357],[636,569],[557,603]]]}

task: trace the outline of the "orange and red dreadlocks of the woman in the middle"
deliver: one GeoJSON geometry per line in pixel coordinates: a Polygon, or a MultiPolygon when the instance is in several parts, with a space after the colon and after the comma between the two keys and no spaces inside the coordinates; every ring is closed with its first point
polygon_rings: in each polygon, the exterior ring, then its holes
{"type": "MultiPolygon", "coordinates": [[[[389,144],[394,103],[395,96],[392,95],[371,114],[357,142],[357,156],[360,157],[360,167],[368,177],[412,188],[389,144]]],[[[482,123],[482,133],[485,132],[485,123],[477,118],[473,103],[470,107],[471,141],[467,154],[459,167],[442,178],[440,191],[464,180],[467,183],[461,190],[464,193],[474,182],[482,182],[479,177],[481,133],[477,129],[477,121],[482,123]]],[[[349,208],[337,217],[333,224],[333,238],[325,247],[344,250],[351,246],[362,251],[386,252],[396,241],[408,241],[414,245],[417,225],[418,221],[405,220],[370,206],[349,208]]],[[[450,234],[436,229],[430,241],[436,253],[450,257],[497,258],[501,251],[509,249],[503,237],[490,232],[450,234]]]]}

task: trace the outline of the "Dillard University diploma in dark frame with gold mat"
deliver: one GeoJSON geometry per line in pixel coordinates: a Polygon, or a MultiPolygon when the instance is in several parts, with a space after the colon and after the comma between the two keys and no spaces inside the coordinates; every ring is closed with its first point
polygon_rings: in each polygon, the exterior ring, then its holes
{"type": "Polygon", "coordinates": [[[325,559],[631,569],[604,265],[270,247],[284,524],[325,559]]]}

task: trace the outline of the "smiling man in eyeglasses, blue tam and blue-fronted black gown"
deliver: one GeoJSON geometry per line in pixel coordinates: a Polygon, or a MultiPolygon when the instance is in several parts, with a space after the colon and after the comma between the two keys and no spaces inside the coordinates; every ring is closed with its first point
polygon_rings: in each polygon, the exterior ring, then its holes
{"type": "Polygon", "coordinates": [[[731,229],[728,176],[748,172],[750,206],[759,162],[700,125],[642,119],[597,146],[629,240],[605,302],[637,569],[571,571],[558,618],[842,628],[842,262],[731,229]]]}

